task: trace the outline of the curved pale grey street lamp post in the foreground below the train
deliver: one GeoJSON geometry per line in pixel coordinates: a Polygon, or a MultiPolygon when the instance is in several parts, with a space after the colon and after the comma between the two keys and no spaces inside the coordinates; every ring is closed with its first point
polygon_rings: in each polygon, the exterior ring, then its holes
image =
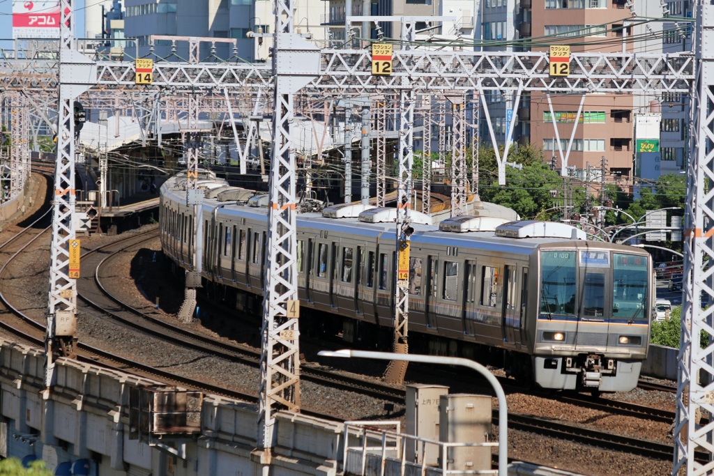
{"type": "Polygon", "coordinates": [[[368,350],[321,350],[317,353],[323,357],[361,357],[366,359],[376,360],[405,360],[406,362],[418,362],[428,364],[441,365],[461,365],[471,368],[483,375],[488,383],[491,384],[498,398],[498,476],[508,475],[508,406],[506,402],[506,394],[503,393],[501,384],[498,383],[496,377],[483,365],[473,360],[461,357],[444,357],[442,355],[415,355],[415,354],[398,354],[390,352],[372,352],[368,350]]]}

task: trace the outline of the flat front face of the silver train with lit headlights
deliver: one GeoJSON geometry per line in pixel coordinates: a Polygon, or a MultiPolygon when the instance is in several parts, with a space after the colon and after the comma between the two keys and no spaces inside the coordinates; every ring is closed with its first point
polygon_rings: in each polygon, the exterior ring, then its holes
{"type": "Polygon", "coordinates": [[[635,388],[650,334],[650,256],[586,241],[543,245],[535,259],[535,382],[593,392],[635,388]]]}

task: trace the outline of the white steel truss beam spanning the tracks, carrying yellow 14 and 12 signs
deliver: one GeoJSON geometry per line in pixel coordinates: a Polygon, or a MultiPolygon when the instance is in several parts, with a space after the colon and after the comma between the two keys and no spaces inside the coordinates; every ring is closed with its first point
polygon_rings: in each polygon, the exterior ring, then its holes
{"type": "MultiPolygon", "coordinates": [[[[550,93],[630,93],[665,91],[686,93],[694,78],[690,54],[667,56],[630,53],[570,56],[570,76],[548,74],[547,52],[395,51],[393,74],[373,76],[371,54],[363,50],[322,50],[316,78],[308,91],[351,93],[401,89],[541,91],[550,93]],[[406,81],[405,81],[406,80],[406,81]]],[[[6,60],[1,66],[0,87],[5,90],[41,88],[57,83],[52,66],[43,60],[6,60]],[[38,74],[27,71],[39,70],[38,74]]],[[[134,88],[134,63],[98,61],[97,85],[104,88],[134,88]]],[[[251,64],[186,64],[157,61],[154,86],[192,88],[271,86],[271,69],[251,64]]],[[[304,92],[304,91],[303,91],[304,92]]]]}

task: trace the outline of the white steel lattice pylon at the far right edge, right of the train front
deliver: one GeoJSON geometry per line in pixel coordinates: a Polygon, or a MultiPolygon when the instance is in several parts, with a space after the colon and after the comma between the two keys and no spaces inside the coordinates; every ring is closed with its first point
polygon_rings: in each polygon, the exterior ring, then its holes
{"type": "Polygon", "coordinates": [[[714,306],[702,309],[700,297],[714,299],[714,5],[699,0],[694,8],[699,19],[693,39],[697,69],[691,91],[690,154],[687,163],[683,307],[677,416],[674,428],[674,465],[679,475],[714,474],[714,306]],[[706,269],[705,269],[706,268],[706,269]],[[708,345],[700,347],[700,335],[708,345]],[[701,425],[700,418],[708,416],[701,425]],[[695,450],[708,452],[708,462],[695,460],[695,450]]]}

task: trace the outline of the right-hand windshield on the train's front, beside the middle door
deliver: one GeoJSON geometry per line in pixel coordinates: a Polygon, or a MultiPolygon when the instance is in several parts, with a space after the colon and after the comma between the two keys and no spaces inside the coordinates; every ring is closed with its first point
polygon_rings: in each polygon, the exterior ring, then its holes
{"type": "Polygon", "coordinates": [[[647,319],[647,258],[615,253],[613,310],[618,318],[647,319]]]}

